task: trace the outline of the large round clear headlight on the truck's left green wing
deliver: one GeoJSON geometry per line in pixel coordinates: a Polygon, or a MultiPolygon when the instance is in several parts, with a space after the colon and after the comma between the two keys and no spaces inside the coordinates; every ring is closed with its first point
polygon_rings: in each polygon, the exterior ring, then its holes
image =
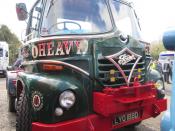
{"type": "Polygon", "coordinates": [[[61,93],[59,97],[60,105],[66,109],[71,108],[75,103],[75,95],[72,91],[67,90],[61,93]]]}

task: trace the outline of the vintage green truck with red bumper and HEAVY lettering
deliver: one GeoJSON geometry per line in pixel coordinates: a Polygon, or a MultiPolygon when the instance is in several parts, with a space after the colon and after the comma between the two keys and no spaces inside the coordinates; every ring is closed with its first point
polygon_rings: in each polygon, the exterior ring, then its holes
{"type": "Polygon", "coordinates": [[[166,110],[132,4],[37,0],[28,13],[16,83],[17,131],[110,131],[166,110]]]}

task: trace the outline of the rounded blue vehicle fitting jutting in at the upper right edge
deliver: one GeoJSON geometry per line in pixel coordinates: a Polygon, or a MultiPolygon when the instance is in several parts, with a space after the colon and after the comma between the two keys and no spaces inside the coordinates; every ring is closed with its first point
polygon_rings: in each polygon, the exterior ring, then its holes
{"type": "Polygon", "coordinates": [[[164,32],[163,44],[167,50],[175,50],[175,29],[164,32]]]}

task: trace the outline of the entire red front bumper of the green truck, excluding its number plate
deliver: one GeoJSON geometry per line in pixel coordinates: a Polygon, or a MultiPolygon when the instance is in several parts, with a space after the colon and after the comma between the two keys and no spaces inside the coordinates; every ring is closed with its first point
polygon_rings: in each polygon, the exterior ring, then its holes
{"type": "Polygon", "coordinates": [[[156,117],[167,108],[166,99],[156,98],[153,83],[133,87],[105,88],[103,92],[93,93],[96,114],[56,124],[32,123],[32,131],[110,131],[133,124],[150,117],[156,117]],[[138,111],[140,117],[112,125],[116,115],[138,111]]]}

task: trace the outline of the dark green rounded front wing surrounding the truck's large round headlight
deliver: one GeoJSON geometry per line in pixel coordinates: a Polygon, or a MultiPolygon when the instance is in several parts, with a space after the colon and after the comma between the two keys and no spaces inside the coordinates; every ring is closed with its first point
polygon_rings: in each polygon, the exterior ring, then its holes
{"type": "MultiPolygon", "coordinates": [[[[75,71],[63,70],[60,73],[20,73],[20,77],[26,83],[26,91],[31,106],[31,94],[39,91],[43,95],[43,108],[38,112],[33,112],[33,120],[45,123],[54,123],[86,116],[91,102],[90,92],[92,86],[87,76],[81,75],[75,71]],[[76,103],[70,109],[64,109],[64,115],[61,117],[54,116],[54,111],[59,105],[59,94],[64,90],[72,90],[76,94],[76,103]]],[[[31,108],[32,109],[32,108],[31,108]]]]}

